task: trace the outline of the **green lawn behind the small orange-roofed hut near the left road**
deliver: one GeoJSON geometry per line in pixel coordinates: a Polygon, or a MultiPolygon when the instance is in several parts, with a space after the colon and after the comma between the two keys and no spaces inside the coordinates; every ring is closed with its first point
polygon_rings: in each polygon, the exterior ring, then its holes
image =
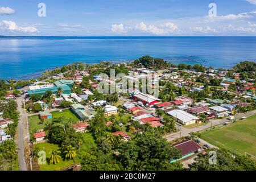
{"type": "MultiPolygon", "coordinates": [[[[75,119],[75,121],[79,121],[79,119],[76,117],[76,115],[73,114],[68,109],[63,110],[62,112],[60,112],[60,111],[52,112],[52,118],[57,118],[57,117],[60,117],[61,115],[65,115],[68,118],[72,118],[72,119],[75,119]]],[[[32,116],[28,117],[28,123],[30,125],[30,132],[35,131],[35,130],[44,129],[44,127],[46,126],[46,123],[49,123],[51,121],[52,121],[52,119],[45,119],[44,123],[42,124],[42,123],[40,123],[41,120],[39,119],[39,115],[32,115],[32,116]]]]}

